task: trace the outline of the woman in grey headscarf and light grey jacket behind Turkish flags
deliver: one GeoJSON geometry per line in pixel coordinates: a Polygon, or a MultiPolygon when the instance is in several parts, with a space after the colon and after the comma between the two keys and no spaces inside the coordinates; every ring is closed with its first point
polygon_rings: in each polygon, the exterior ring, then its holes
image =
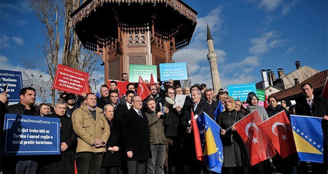
{"type": "MultiPolygon", "coordinates": [[[[248,93],[246,102],[249,104],[247,105],[247,109],[250,112],[257,110],[262,121],[269,118],[267,111],[265,111],[264,107],[258,106],[258,97],[254,92],[248,93]]],[[[269,164],[270,164],[269,159],[259,162],[251,167],[251,173],[258,173],[258,174],[270,173],[269,164]]]]}

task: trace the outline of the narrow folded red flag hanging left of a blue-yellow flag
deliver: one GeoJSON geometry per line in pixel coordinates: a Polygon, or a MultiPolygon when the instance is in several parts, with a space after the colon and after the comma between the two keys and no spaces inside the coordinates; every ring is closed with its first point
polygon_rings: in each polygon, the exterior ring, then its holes
{"type": "Polygon", "coordinates": [[[203,160],[203,153],[202,153],[202,149],[201,149],[201,145],[200,145],[199,130],[198,130],[196,119],[194,117],[195,117],[194,112],[191,110],[190,126],[191,126],[191,129],[194,132],[196,157],[197,157],[197,160],[202,161],[203,160]]]}

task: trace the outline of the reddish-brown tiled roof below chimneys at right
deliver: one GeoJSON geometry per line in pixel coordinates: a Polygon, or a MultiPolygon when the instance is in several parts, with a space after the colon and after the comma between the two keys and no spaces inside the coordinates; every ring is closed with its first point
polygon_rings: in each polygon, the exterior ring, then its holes
{"type": "Polygon", "coordinates": [[[273,93],[269,96],[275,96],[277,100],[280,100],[282,98],[300,94],[302,93],[301,86],[304,83],[310,83],[313,86],[314,90],[318,88],[323,88],[324,82],[326,81],[327,77],[328,77],[328,69],[314,74],[313,76],[304,80],[302,83],[298,84],[297,86],[273,93]]]}

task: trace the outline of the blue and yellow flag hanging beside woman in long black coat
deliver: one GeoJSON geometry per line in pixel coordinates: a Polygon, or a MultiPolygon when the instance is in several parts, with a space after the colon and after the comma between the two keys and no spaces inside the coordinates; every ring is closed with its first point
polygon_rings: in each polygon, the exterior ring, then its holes
{"type": "Polygon", "coordinates": [[[220,139],[221,128],[205,112],[197,117],[196,122],[204,161],[211,171],[221,173],[223,164],[223,146],[220,139]]]}

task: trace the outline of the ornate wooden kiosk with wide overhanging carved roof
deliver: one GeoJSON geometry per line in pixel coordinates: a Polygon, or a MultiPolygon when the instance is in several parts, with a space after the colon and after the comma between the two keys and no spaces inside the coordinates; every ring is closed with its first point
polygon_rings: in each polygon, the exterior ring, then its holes
{"type": "Polygon", "coordinates": [[[105,62],[105,79],[120,80],[129,64],[173,62],[190,43],[197,12],[180,0],[92,0],[71,18],[84,47],[105,62]]]}

